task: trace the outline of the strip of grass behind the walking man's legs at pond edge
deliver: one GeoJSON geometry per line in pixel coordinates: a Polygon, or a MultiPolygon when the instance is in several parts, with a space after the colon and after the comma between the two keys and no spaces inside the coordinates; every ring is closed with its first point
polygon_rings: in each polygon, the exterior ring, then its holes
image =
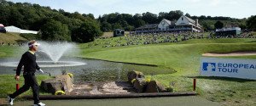
{"type": "MultiPolygon", "coordinates": [[[[15,80],[15,75],[0,75],[0,97],[6,97],[8,94],[15,92],[16,83],[19,83],[20,87],[24,85],[24,78],[20,75],[20,81],[15,80]]],[[[37,75],[38,84],[41,84],[41,81],[44,79],[48,79],[50,76],[48,75],[37,75]]],[[[40,91],[40,95],[49,94],[47,92],[40,91]]],[[[32,89],[27,92],[22,93],[20,96],[24,95],[32,95],[32,89]]]]}

